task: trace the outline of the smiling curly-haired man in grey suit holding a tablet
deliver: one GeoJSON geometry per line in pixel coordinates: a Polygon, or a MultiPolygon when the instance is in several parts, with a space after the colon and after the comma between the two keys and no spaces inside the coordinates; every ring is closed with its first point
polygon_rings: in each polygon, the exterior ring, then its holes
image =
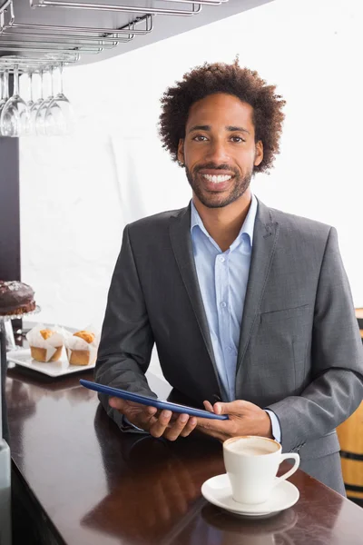
{"type": "Polygon", "coordinates": [[[250,191],[279,153],[284,104],[238,61],[195,68],[163,95],[163,146],[192,201],[126,225],[95,379],[155,395],[144,376],[155,342],[183,401],[229,420],[101,396],[121,429],[274,437],[344,494],[335,428],[362,400],[363,353],[337,233],[250,191]]]}

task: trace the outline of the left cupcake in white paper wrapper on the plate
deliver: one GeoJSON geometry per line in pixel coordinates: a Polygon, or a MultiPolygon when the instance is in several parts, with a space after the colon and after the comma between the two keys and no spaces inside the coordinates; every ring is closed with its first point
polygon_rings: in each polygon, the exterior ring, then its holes
{"type": "Polygon", "coordinates": [[[36,362],[58,362],[61,358],[64,339],[56,330],[37,325],[26,334],[26,339],[36,362]]]}

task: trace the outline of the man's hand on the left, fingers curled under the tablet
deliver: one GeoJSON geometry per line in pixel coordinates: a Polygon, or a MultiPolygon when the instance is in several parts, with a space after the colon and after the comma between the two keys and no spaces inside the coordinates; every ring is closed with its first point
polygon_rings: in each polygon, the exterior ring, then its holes
{"type": "Polygon", "coordinates": [[[149,431],[152,437],[164,437],[175,441],[181,435],[187,437],[197,425],[197,419],[188,414],[173,414],[172,411],[161,411],[156,407],[148,407],[141,403],[125,401],[116,397],[109,400],[113,409],[121,412],[134,426],[149,431]]]}

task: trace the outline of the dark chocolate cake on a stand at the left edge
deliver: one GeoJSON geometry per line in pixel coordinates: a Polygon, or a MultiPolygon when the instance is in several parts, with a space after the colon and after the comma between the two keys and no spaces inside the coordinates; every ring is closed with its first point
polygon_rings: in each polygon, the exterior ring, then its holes
{"type": "Polygon", "coordinates": [[[35,309],[34,290],[17,280],[0,280],[0,315],[25,314],[35,309]]]}

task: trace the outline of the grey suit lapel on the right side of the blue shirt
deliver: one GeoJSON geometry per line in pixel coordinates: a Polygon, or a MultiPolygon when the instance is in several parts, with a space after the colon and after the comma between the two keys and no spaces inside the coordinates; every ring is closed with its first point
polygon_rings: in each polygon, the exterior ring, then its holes
{"type": "Polygon", "coordinates": [[[260,302],[269,277],[270,265],[279,237],[279,223],[272,222],[270,211],[259,201],[253,231],[250,273],[247,282],[242,322],[240,325],[240,342],[237,358],[237,369],[243,361],[253,325],[260,312],[260,302]]]}

